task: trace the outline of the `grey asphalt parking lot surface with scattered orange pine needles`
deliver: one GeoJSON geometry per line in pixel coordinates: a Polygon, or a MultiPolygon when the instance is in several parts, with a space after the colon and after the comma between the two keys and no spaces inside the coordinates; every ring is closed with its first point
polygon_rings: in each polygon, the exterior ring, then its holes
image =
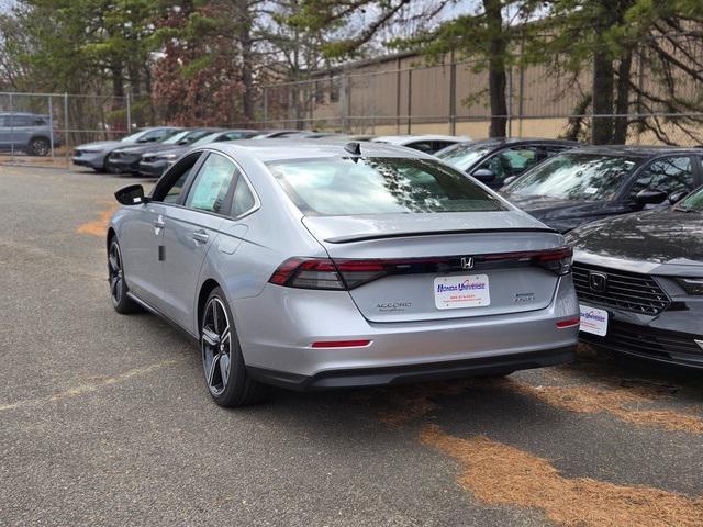
{"type": "Polygon", "coordinates": [[[103,233],[136,181],[0,166],[0,525],[703,525],[700,372],[583,348],[217,407],[191,341],[110,304],[103,233]]]}

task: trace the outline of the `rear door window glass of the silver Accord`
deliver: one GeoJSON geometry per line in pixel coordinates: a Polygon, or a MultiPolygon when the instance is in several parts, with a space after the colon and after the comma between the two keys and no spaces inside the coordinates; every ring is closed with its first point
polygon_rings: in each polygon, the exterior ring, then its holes
{"type": "Polygon", "coordinates": [[[221,212],[235,173],[236,166],[232,161],[217,154],[211,154],[196,176],[186,199],[186,206],[221,212]]]}

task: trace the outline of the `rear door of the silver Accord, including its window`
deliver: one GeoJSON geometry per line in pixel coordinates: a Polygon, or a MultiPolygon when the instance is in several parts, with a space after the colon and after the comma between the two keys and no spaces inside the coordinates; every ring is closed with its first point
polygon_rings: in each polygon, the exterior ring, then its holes
{"type": "Polygon", "coordinates": [[[236,165],[210,152],[187,190],[181,206],[166,212],[164,228],[164,302],[166,314],[194,329],[193,302],[200,268],[230,213],[236,165]]]}

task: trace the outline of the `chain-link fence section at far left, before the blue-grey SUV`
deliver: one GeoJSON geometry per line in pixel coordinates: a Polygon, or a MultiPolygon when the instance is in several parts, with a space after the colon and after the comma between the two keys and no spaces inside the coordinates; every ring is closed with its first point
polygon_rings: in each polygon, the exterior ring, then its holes
{"type": "Polygon", "coordinates": [[[67,166],[76,145],[131,128],[127,97],[0,92],[0,162],[67,166]]]}

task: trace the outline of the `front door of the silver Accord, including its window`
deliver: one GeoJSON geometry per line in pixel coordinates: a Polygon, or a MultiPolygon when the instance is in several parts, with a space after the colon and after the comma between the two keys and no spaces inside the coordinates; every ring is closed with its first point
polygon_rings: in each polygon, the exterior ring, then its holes
{"type": "Polygon", "coordinates": [[[140,300],[161,313],[166,313],[163,281],[165,217],[182,199],[201,154],[183,158],[158,181],[147,203],[130,208],[130,215],[119,233],[127,287],[140,300]]]}

